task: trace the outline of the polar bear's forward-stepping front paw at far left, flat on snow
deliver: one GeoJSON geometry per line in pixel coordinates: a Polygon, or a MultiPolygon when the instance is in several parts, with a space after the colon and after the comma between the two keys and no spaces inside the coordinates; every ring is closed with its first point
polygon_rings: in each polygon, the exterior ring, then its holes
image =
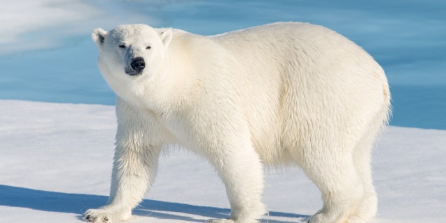
{"type": "Polygon", "coordinates": [[[84,220],[93,223],[110,223],[128,220],[130,213],[116,212],[107,208],[89,209],[84,214],[84,220]]]}

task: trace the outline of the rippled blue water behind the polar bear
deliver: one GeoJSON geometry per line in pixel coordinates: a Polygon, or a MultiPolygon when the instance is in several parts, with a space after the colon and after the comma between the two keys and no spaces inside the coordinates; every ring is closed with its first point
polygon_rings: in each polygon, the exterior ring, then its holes
{"type": "MultiPolygon", "coordinates": [[[[391,125],[446,129],[446,2],[378,1],[91,1],[122,22],[172,26],[210,35],[278,21],[328,26],[364,47],[383,66],[394,106],[391,125]],[[126,20],[128,15],[141,16],[126,20]],[[156,20],[154,19],[156,18],[156,20]]],[[[97,26],[111,29],[110,24],[97,26]]],[[[52,38],[53,30],[33,35],[52,38]]],[[[31,40],[31,38],[24,38],[31,40]]],[[[96,68],[90,33],[52,48],[0,56],[0,98],[114,105],[96,68]]],[[[1,48],[0,48],[1,52],[1,48]]],[[[3,108],[5,109],[5,108],[3,108]]]]}

